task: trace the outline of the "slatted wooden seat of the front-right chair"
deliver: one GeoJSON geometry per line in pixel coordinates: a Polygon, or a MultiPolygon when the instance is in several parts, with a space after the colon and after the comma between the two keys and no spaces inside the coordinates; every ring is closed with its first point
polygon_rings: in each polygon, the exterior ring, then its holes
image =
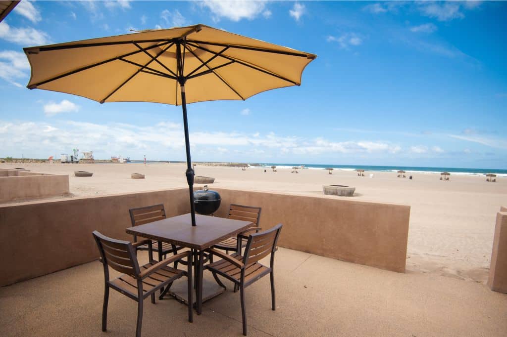
{"type": "MultiPolygon", "coordinates": [[[[243,257],[237,253],[230,255],[231,258],[234,258],[238,261],[243,260],[243,257]]],[[[219,273],[223,276],[226,276],[231,281],[236,283],[241,282],[241,269],[234,266],[227,260],[219,260],[213,263],[210,263],[206,266],[206,268],[210,269],[212,272],[219,273]]],[[[250,263],[245,267],[245,285],[263,277],[266,274],[271,272],[271,268],[268,268],[259,262],[250,263]]]]}

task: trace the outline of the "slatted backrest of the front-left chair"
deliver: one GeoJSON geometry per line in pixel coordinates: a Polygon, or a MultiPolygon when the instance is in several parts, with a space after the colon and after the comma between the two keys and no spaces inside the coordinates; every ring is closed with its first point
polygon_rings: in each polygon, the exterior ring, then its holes
{"type": "Polygon", "coordinates": [[[93,231],[93,237],[97,242],[100,257],[104,264],[104,273],[108,278],[107,267],[110,266],[120,273],[137,278],[139,275],[139,264],[135,256],[134,247],[129,241],[116,240],[97,231],[93,231]]]}

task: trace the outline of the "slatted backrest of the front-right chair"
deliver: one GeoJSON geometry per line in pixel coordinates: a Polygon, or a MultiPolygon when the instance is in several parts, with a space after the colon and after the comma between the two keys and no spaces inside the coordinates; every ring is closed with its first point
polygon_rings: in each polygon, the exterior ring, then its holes
{"type": "Polygon", "coordinates": [[[281,229],[282,224],[278,224],[266,231],[250,234],[245,247],[243,263],[247,265],[257,262],[272,254],[276,249],[276,242],[278,241],[281,229]]]}

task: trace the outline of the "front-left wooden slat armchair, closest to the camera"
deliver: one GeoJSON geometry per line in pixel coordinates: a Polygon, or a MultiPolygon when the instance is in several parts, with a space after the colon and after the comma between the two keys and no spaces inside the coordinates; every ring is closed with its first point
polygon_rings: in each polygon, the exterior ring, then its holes
{"type": "Polygon", "coordinates": [[[93,231],[93,237],[97,242],[100,251],[101,262],[104,266],[104,304],[102,307],[102,331],[107,328],[107,303],[109,301],[109,288],[113,288],[125,296],[137,302],[137,328],[135,335],[141,335],[142,323],[142,304],[144,299],[151,296],[152,303],[155,303],[155,291],[167,286],[169,288],[172,282],[182,276],[188,279],[188,319],[192,322],[192,264],[188,264],[187,271],[174,269],[168,265],[183,258],[192,261],[190,251],[185,251],[174,255],[163,261],[153,260],[152,241],[147,239],[135,243],[129,241],[115,240],[93,231]],[[146,244],[149,247],[150,262],[139,266],[135,249],[146,244]],[[120,273],[119,277],[109,279],[109,267],[120,273]]]}

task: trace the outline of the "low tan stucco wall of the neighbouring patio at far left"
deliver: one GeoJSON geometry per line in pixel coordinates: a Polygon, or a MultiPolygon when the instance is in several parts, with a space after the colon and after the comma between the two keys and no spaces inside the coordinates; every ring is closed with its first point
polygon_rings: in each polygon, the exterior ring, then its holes
{"type": "Polygon", "coordinates": [[[67,175],[46,175],[33,172],[0,171],[0,203],[69,194],[67,175]]]}

